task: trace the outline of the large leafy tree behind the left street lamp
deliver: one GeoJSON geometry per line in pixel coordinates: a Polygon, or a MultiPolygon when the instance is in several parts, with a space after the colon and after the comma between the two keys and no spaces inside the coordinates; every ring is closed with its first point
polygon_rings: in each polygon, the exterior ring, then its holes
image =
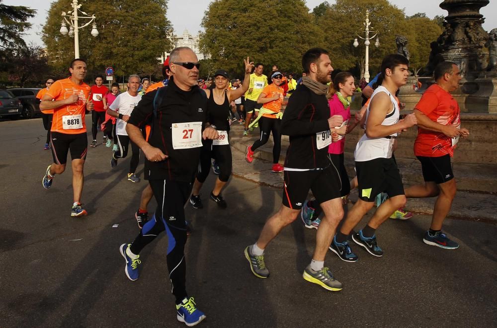
{"type": "MultiPolygon", "coordinates": [[[[171,23],[166,19],[167,0],[87,0],[84,11],[95,13],[99,35],[93,38],[89,27],[80,30],[80,54],[88,62],[89,73],[103,74],[108,66],[116,75],[153,75],[157,58],[171,50],[168,36],[171,23]]],[[[61,12],[67,0],[52,2],[42,39],[48,50],[49,64],[56,72],[67,72],[74,58],[74,40],[59,32],[61,12]]]]}

